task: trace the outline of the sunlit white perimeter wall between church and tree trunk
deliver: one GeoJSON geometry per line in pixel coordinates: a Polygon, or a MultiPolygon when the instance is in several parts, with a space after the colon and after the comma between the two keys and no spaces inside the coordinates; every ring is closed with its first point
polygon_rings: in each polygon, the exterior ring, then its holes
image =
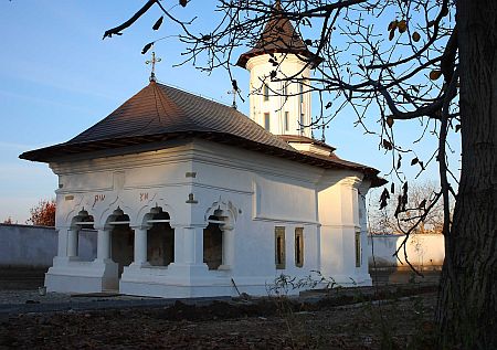
{"type": "MultiPolygon", "coordinates": [[[[377,267],[406,266],[403,250],[399,259],[393,256],[405,235],[372,235],[368,237],[369,265],[377,267]]],[[[442,234],[412,234],[406,242],[409,262],[414,266],[442,266],[445,257],[442,234]]]]}

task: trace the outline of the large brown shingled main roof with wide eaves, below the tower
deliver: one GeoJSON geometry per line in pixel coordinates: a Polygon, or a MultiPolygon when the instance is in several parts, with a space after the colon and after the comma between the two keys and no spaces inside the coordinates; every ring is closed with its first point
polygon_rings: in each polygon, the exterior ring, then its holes
{"type": "Polygon", "coordinates": [[[50,162],[98,150],[123,149],[125,152],[125,147],[137,145],[160,149],[163,148],[160,142],[186,138],[202,138],[325,169],[357,170],[369,177],[373,184],[379,183],[377,185],[383,181],[373,168],[341,160],[332,153],[322,157],[297,151],[287,144],[289,140],[266,131],[232,107],[156,82],[150,82],[106,118],[73,139],[19,157],[50,162]]]}

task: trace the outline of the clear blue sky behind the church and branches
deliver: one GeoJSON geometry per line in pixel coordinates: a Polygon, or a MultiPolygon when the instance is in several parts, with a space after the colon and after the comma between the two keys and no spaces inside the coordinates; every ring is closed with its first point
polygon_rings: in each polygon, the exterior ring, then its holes
{"type": "MultiPolygon", "coordinates": [[[[165,21],[159,32],[151,25],[160,17],[150,11],[123,36],[102,40],[105,30],[126,20],[142,1],[30,0],[0,2],[0,221],[11,216],[23,223],[29,209],[41,199],[54,197],[56,177],[47,165],[20,160],[25,151],[66,141],[101,120],[148,84],[148,56],[141,47],[155,39],[178,33],[165,21]]],[[[165,1],[172,7],[177,1],[165,1]]],[[[214,1],[193,1],[173,13],[200,15],[212,23],[214,1]]],[[[157,66],[161,83],[230,104],[228,74],[211,75],[191,65],[172,67],[181,61],[176,38],[156,45],[162,62],[157,66]]],[[[235,68],[235,77],[247,94],[248,72],[235,68]]],[[[317,99],[314,99],[314,107],[317,99]]],[[[246,114],[247,104],[240,109],[246,114]]],[[[378,138],[355,128],[350,110],[327,130],[328,144],[341,158],[389,171],[391,159],[378,150],[378,138]]],[[[374,116],[372,116],[374,120],[374,116]]],[[[405,138],[415,138],[417,121],[399,127],[405,138]]],[[[434,140],[432,140],[434,142],[434,140]]],[[[432,144],[433,145],[433,144],[432,144]]],[[[417,145],[427,151],[430,140],[417,145]]],[[[414,172],[412,172],[414,173],[414,172]]],[[[435,170],[425,178],[436,177],[435,170]]]]}

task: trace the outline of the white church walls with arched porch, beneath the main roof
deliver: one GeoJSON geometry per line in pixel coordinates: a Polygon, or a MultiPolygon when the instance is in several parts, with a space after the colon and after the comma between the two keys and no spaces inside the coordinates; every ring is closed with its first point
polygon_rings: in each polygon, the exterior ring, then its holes
{"type": "MultiPolygon", "coordinates": [[[[334,278],[361,273],[355,267],[355,233],[361,227],[357,173],[325,171],[205,140],[51,167],[60,174],[61,184],[56,191],[59,255],[67,252],[72,221],[83,208],[94,216],[95,229],[104,230],[119,206],[129,216],[135,234],[146,230],[146,215],[152,208],[170,214],[175,262],[169,266],[125,266],[120,279],[124,293],[235,295],[233,278],[241,291],[265,294],[266,285],[281,274],[298,279],[311,271],[334,278]],[[348,181],[339,181],[343,178],[348,181]],[[221,219],[225,220],[221,225],[223,263],[209,271],[202,262],[201,242],[208,219],[216,210],[225,216],[221,219]],[[281,269],[275,262],[276,227],[285,230],[285,264],[281,269]],[[296,229],[303,229],[304,235],[302,266],[295,257],[296,229]]],[[[60,276],[67,274],[70,266],[82,275],[74,277],[72,286],[83,289],[101,288],[95,282],[98,274],[108,286],[105,278],[120,271],[105,262],[83,264],[56,257],[54,263],[49,271],[54,276],[51,280],[56,280],[52,290],[61,287],[60,276]],[[93,283],[78,283],[82,278],[93,278],[93,283]]],[[[71,291],[91,291],[83,289],[71,291]]]]}

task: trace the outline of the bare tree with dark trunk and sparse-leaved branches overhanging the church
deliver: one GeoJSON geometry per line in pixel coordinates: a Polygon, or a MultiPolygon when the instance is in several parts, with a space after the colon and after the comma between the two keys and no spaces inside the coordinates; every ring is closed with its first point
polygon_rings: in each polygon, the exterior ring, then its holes
{"type": "MultiPolygon", "coordinates": [[[[188,6],[187,0],[179,3],[188,6]]],[[[444,204],[446,250],[436,311],[441,344],[497,348],[497,2],[282,0],[274,6],[261,0],[218,0],[215,10],[222,17],[211,23],[205,14],[212,26],[202,33],[195,31],[202,14],[197,21],[182,19],[181,12],[172,14],[165,4],[146,1],[104,38],[121,34],[157,6],[179,28],[179,39],[187,44],[184,62],[207,71],[224,67],[232,75],[240,50],[256,45],[266,25],[277,25],[272,24],[279,23],[275,15],[290,20],[314,54],[303,54],[295,46],[276,51],[297,54],[316,67],[315,76],[304,82],[322,102],[313,126],[326,125],[348,105],[356,112],[353,123],[377,134],[379,145],[392,155],[393,173],[402,166],[402,157],[411,158],[421,171],[437,162],[441,188],[433,202],[444,204]],[[371,115],[378,116],[377,123],[371,124],[371,115]],[[437,137],[427,159],[419,159],[394,137],[395,123],[411,119],[420,123],[420,138],[429,132],[437,137]],[[447,165],[447,137],[458,131],[461,179],[447,165]],[[457,193],[451,178],[458,183],[457,193]],[[455,199],[452,223],[451,195],[455,199]]],[[[274,44],[279,43],[274,38],[274,44]]],[[[276,73],[279,63],[273,60],[276,73]]],[[[277,76],[272,73],[268,78],[277,76]]],[[[284,79],[298,81],[299,75],[284,79]]],[[[384,193],[387,200],[389,191],[384,193]]],[[[406,204],[404,183],[400,212],[406,204]]]]}

